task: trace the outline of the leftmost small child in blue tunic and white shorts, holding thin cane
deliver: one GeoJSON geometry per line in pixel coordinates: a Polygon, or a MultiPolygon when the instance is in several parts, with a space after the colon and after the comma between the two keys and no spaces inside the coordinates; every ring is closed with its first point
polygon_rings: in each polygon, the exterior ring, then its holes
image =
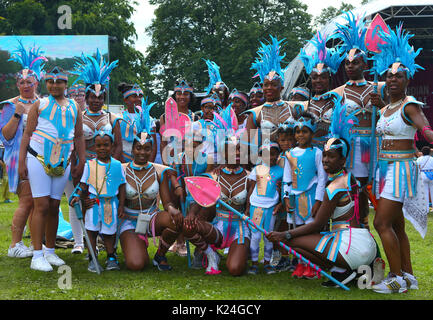
{"type": "MultiPolygon", "coordinates": [[[[114,137],[110,132],[98,131],[95,135],[96,159],[87,160],[80,184],[71,196],[74,206],[88,192],[94,199],[92,208],[86,211],[85,226],[93,250],[96,252],[96,237],[103,234],[107,251],[106,270],[120,270],[115,255],[117,216],[124,213],[125,174],[121,162],[111,157],[114,137]]],[[[88,270],[101,269],[98,261],[89,256],[88,270]]]]}

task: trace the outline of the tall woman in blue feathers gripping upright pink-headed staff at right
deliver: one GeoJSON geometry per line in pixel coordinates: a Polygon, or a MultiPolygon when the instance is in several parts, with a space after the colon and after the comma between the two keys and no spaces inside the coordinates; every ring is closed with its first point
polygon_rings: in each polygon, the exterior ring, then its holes
{"type": "MultiPolygon", "coordinates": [[[[386,97],[385,85],[383,82],[375,85],[364,78],[368,70],[367,48],[365,46],[365,34],[367,28],[363,17],[355,17],[352,12],[345,14],[347,25],[337,25],[336,32],[331,39],[342,41],[341,50],[344,52],[344,68],[349,80],[342,86],[333,89],[332,92],[342,98],[348,112],[356,112],[358,124],[352,130],[355,139],[352,140],[351,152],[347,159],[347,170],[355,175],[364,189],[360,194],[360,214],[365,226],[368,227],[368,196],[365,191],[367,183],[371,182],[373,169],[377,154],[371,153],[372,128],[376,125],[373,122],[373,106],[376,111],[385,106],[386,97]],[[370,181],[368,181],[370,178],[370,181]]],[[[378,115],[378,114],[377,114],[378,115]]],[[[378,116],[376,115],[376,119],[378,116]]],[[[376,139],[376,137],[374,138],[376,139]]],[[[376,141],[376,146],[378,145],[376,141]]]]}

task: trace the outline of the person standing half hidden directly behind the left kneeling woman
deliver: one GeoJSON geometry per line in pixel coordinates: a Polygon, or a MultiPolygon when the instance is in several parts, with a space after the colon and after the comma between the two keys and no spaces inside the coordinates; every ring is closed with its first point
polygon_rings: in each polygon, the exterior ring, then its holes
{"type": "MultiPolygon", "coordinates": [[[[141,131],[138,127],[139,124],[139,116],[141,110],[141,100],[143,98],[143,91],[137,85],[130,85],[124,82],[120,83],[117,86],[117,89],[123,95],[123,102],[125,106],[123,110],[121,110],[120,114],[118,114],[117,120],[120,124],[120,131],[122,132],[122,147],[123,147],[123,160],[122,162],[130,162],[132,161],[132,141],[134,137],[141,131]]],[[[153,139],[156,141],[156,135],[152,134],[153,139]]],[[[152,144],[152,156],[150,161],[154,162],[156,157],[156,147],[157,144],[152,144]]]]}

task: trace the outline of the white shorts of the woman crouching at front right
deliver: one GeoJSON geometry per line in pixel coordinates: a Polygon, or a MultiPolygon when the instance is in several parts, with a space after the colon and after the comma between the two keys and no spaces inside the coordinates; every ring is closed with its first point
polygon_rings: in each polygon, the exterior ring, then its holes
{"type": "Polygon", "coordinates": [[[360,266],[373,262],[377,253],[376,242],[367,229],[351,228],[351,230],[344,230],[341,235],[339,253],[352,270],[357,270],[360,266]],[[349,248],[349,252],[346,254],[347,248],[349,248]]]}

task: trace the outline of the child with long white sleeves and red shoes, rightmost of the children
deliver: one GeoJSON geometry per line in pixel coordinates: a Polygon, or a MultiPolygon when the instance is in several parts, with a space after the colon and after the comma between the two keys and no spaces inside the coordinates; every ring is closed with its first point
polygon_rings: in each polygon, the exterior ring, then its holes
{"type": "MultiPolygon", "coordinates": [[[[284,165],[284,203],[287,212],[295,207],[295,212],[287,216],[287,223],[296,227],[313,221],[319,210],[325,192],[326,172],[322,165],[322,151],[312,146],[316,125],[313,116],[304,112],[297,119],[295,139],[298,146],[286,152],[284,165]],[[294,203],[290,203],[294,195],[294,203]]],[[[310,266],[299,263],[293,277],[315,279],[317,272],[310,266]]]]}

